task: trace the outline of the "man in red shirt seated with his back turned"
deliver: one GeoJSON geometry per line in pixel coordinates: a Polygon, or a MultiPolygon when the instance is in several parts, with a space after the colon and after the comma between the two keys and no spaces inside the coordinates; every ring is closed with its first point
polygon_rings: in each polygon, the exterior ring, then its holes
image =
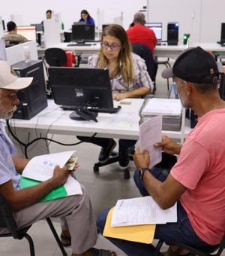
{"type": "Polygon", "coordinates": [[[154,31],[145,27],[145,14],[138,12],[134,14],[133,24],[127,30],[127,36],[131,44],[145,44],[151,50],[154,56],[154,47],[157,44],[157,38],[154,31]]]}

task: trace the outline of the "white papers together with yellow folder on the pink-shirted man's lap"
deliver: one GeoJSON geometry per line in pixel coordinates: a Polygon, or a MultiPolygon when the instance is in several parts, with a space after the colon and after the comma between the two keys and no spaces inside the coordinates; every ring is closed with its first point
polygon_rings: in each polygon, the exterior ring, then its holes
{"type": "Polygon", "coordinates": [[[103,234],[128,241],[151,243],[155,224],[176,221],[176,204],[162,210],[150,196],[118,200],[107,216],[103,234]]]}

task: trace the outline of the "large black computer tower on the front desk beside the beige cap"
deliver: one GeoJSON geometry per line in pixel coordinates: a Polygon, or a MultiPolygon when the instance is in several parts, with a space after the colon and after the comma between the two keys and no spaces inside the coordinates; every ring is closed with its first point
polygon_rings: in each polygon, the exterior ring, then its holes
{"type": "Polygon", "coordinates": [[[13,118],[30,120],[47,106],[46,85],[43,75],[43,62],[17,62],[12,66],[18,77],[33,77],[32,83],[23,90],[18,90],[20,104],[13,118]]]}

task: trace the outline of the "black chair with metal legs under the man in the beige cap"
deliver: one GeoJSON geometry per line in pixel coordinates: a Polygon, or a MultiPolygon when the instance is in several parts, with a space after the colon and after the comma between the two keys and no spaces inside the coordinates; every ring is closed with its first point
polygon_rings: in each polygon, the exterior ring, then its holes
{"type": "MultiPolygon", "coordinates": [[[[65,248],[62,246],[62,243],[61,243],[60,239],[58,238],[58,234],[55,231],[52,221],[50,220],[50,218],[46,218],[46,221],[49,224],[49,227],[52,230],[53,235],[55,236],[55,240],[58,243],[58,246],[61,249],[62,254],[64,256],[67,255],[65,248]]],[[[29,225],[28,227],[23,227],[20,230],[17,229],[17,223],[13,216],[13,212],[10,209],[10,206],[8,206],[7,201],[5,200],[5,197],[3,197],[2,194],[0,194],[0,227],[6,227],[9,230],[9,233],[0,234],[0,238],[13,236],[14,239],[21,240],[25,237],[29,242],[30,255],[31,256],[35,255],[34,242],[31,239],[31,236],[29,236],[27,233],[27,231],[31,227],[31,225],[29,225]]]]}

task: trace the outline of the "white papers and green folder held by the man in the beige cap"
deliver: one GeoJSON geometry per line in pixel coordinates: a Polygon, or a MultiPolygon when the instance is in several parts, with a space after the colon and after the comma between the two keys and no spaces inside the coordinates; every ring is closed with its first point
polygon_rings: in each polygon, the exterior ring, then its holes
{"type": "MultiPolygon", "coordinates": [[[[54,154],[44,154],[32,158],[23,170],[21,187],[31,187],[40,183],[40,181],[46,181],[51,178],[55,166],[58,165],[61,168],[65,166],[75,152],[76,151],[65,151],[54,154]]],[[[74,160],[77,160],[77,158],[75,157],[74,160]]],[[[50,192],[42,201],[76,194],[82,195],[83,192],[79,182],[69,175],[68,181],[64,185],[50,192]]]]}

